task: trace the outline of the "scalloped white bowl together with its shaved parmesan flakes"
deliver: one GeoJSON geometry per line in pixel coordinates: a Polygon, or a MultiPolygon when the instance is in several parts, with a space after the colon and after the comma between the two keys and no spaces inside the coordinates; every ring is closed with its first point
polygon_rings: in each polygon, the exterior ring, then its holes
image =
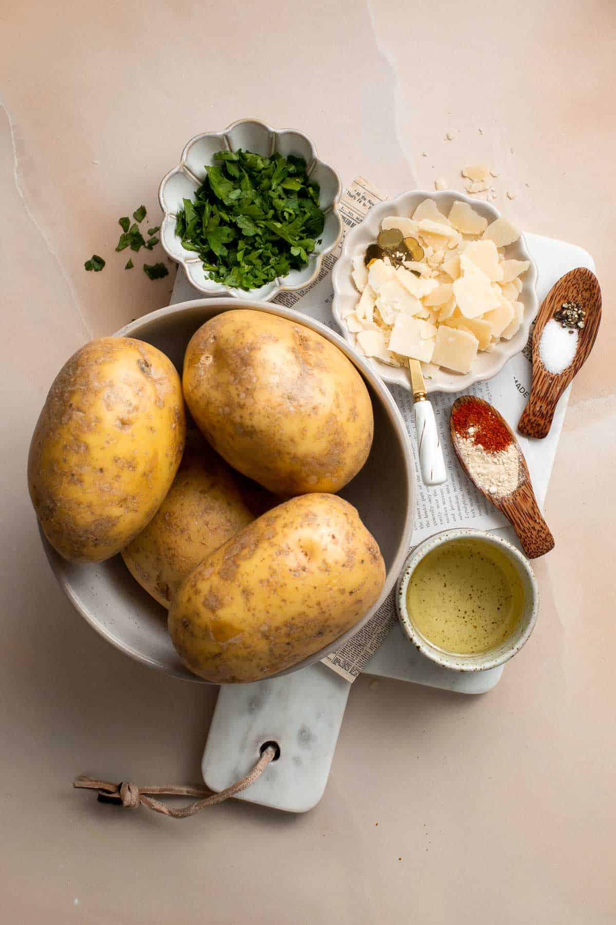
{"type": "MultiPolygon", "coordinates": [[[[483,166],[469,167],[468,175],[475,174],[478,181],[480,171],[483,166]]],[[[363,226],[347,236],[334,268],[333,309],[344,333],[377,361],[386,381],[405,385],[408,360],[415,359],[431,380],[430,391],[454,391],[494,375],[524,347],[538,309],[536,269],[525,259],[519,231],[492,205],[471,204],[452,192],[406,193],[371,210],[368,224],[370,238],[363,226]],[[412,207],[403,210],[401,202],[412,207]],[[378,224],[375,213],[380,213],[378,224]],[[413,238],[423,258],[404,260],[394,249],[388,253],[383,235],[382,256],[366,267],[368,244],[381,231],[394,229],[413,238]],[[349,260],[345,252],[355,236],[362,243],[355,245],[349,260]],[[344,267],[348,282],[342,277],[344,267]],[[388,367],[390,376],[384,372],[388,367]],[[481,369],[474,376],[477,367],[481,369]]],[[[410,241],[406,246],[415,256],[416,245],[410,241]]]]}

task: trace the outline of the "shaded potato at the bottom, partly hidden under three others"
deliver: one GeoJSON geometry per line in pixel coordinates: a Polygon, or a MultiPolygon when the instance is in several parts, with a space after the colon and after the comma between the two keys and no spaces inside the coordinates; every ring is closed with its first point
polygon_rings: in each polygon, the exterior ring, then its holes
{"type": "Polygon", "coordinates": [[[191,432],[169,494],[122,558],[139,585],[168,608],[201,560],[276,503],[191,432]]]}

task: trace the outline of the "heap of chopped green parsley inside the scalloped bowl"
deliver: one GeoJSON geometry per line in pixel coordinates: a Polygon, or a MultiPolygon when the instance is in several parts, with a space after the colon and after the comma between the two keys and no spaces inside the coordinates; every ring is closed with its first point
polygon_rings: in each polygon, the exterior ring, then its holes
{"type": "Polygon", "coordinates": [[[199,254],[211,279],[259,289],[306,266],[325,216],[303,158],[239,150],[220,151],[214,160],[195,201],[185,199],[175,220],[175,234],[199,254]]]}

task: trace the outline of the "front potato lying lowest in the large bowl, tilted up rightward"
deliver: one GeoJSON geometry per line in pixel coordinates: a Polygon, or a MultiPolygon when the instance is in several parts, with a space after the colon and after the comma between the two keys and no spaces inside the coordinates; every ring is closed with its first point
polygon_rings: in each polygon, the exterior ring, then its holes
{"type": "Polygon", "coordinates": [[[342,498],[301,495],[216,549],[180,586],[169,632],[215,684],[259,681],[333,643],[379,598],[380,549],[342,498]]]}

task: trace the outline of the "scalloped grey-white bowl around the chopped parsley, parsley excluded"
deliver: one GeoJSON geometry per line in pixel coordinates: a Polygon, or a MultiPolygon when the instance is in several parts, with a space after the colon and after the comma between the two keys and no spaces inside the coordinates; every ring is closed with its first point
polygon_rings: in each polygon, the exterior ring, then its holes
{"type": "Polygon", "coordinates": [[[237,299],[273,299],[281,290],[297,290],[308,286],[317,277],[320,264],[326,253],[330,253],[340,240],[342,220],[338,214],[340,199],[340,178],[333,167],[319,160],[317,149],[301,131],[295,129],[272,129],[257,119],[239,119],[223,131],[206,131],[187,142],[180,163],[161,180],[158,191],[163,209],[161,243],[164,250],[178,264],[182,265],[190,283],[206,295],[231,295],[237,299]],[[182,208],[183,199],[192,199],[206,177],[205,165],[213,164],[217,151],[236,151],[238,148],[253,151],[264,157],[274,151],[287,157],[296,154],[307,164],[310,179],[320,186],[320,208],[325,213],[325,227],[314,253],[308,257],[308,265],[302,270],[292,270],[285,277],[278,277],[256,290],[233,289],[222,286],[207,276],[197,254],[182,247],[175,235],[175,216],[182,208]]]}

